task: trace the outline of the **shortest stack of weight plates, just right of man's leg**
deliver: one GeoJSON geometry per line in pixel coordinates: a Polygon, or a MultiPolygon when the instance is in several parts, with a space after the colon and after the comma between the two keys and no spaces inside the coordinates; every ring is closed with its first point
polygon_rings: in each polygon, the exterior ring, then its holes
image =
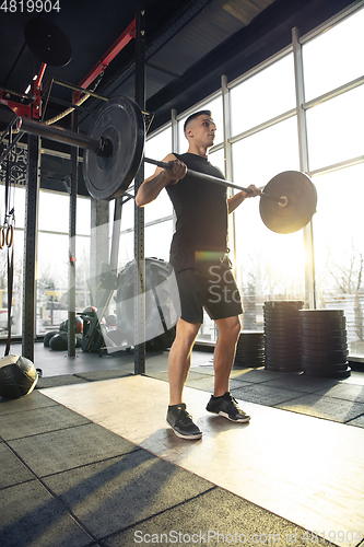
{"type": "Polygon", "coordinates": [[[242,330],[236,346],[234,365],[251,369],[265,366],[263,331],[242,330]]]}

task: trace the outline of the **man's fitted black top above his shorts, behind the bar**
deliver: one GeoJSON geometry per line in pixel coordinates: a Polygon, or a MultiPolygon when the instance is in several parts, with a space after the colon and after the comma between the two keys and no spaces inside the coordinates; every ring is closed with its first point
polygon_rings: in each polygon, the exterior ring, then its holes
{"type": "MultiPolygon", "coordinates": [[[[223,173],[206,158],[190,153],[174,155],[183,161],[188,170],[225,178],[223,173]]],[[[183,252],[193,252],[193,255],[196,252],[226,253],[226,187],[186,175],[177,184],[166,186],[166,190],[177,217],[171,257],[176,254],[180,255],[183,252]]],[[[189,263],[188,259],[187,263],[189,263]]],[[[187,264],[186,266],[191,267],[187,264]]]]}

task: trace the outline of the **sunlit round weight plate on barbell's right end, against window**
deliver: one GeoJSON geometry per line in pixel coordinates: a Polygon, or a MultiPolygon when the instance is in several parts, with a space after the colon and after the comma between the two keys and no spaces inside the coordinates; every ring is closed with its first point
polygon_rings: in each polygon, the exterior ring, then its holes
{"type": "Polygon", "coordinates": [[[280,198],[287,205],[261,196],[259,210],[263,223],[272,232],[289,234],[304,228],[316,212],[317,191],[310,178],[297,171],[275,175],[265,187],[265,194],[280,198]]]}

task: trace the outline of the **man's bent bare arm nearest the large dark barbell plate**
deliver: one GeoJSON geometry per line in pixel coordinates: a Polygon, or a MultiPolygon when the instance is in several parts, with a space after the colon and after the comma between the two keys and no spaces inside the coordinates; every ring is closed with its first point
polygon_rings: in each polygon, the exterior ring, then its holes
{"type": "Polygon", "coordinates": [[[140,185],[136,196],[136,203],[138,207],[144,207],[146,203],[154,201],[163,188],[168,186],[168,184],[178,183],[178,181],[186,175],[187,166],[181,161],[177,160],[174,154],[166,155],[163,162],[172,162],[172,168],[164,170],[162,167],[156,167],[154,175],[145,178],[140,185]]]}

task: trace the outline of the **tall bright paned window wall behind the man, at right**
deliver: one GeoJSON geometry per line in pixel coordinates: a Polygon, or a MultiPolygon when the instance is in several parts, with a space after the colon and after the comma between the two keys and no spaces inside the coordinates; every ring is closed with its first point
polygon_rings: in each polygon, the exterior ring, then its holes
{"type": "MultiPolygon", "coordinates": [[[[317,212],[313,220],[315,265],[307,272],[307,249],[302,231],[289,235],[269,231],[259,219],[259,201],[255,199],[245,201],[235,211],[230,223],[231,246],[244,295],[244,328],[262,328],[265,300],[305,300],[307,275],[313,277],[313,271],[316,271],[316,292],[310,294],[310,300],[316,298],[318,307],[345,310],[350,351],[362,357],[363,25],[364,10],[360,10],[347,20],[320,30],[314,38],[300,40],[304,44],[304,88],[300,91],[306,101],[303,108],[307,149],[304,139],[301,139],[301,144],[298,142],[295,88],[298,83],[295,81],[293,51],[272,59],[260,70],[256,69],[228,85],[231,136],[227,147],[231,147],[231,154],[224,154],[223,132],[210,153],[210,161],[223,171],[231,158],[233,182],[242,186],[251,183],[265,186],[278,173],[297,171],[302,163],[306,163],[318,190],[317,212]]],[[[221,104],[220,101],[221,97],[215,98],[215,104],[221,104]]],[[[193,109],[203,106],[208,107],[208,104],[198,104],[193,109]]],[[[192,109],[179,119],[180,149],[183,124],[190,112],[192,109]]],[[[222,108],[218,108],[218,114],[214,110],[213,116],[215,119],[222,117],[222,108]]],[[[312,282],[310,287],[315,283],[312,282]]],[[[213,340],[215,334],[212,323],[207,319],[200,337],[213,340]]]]}

